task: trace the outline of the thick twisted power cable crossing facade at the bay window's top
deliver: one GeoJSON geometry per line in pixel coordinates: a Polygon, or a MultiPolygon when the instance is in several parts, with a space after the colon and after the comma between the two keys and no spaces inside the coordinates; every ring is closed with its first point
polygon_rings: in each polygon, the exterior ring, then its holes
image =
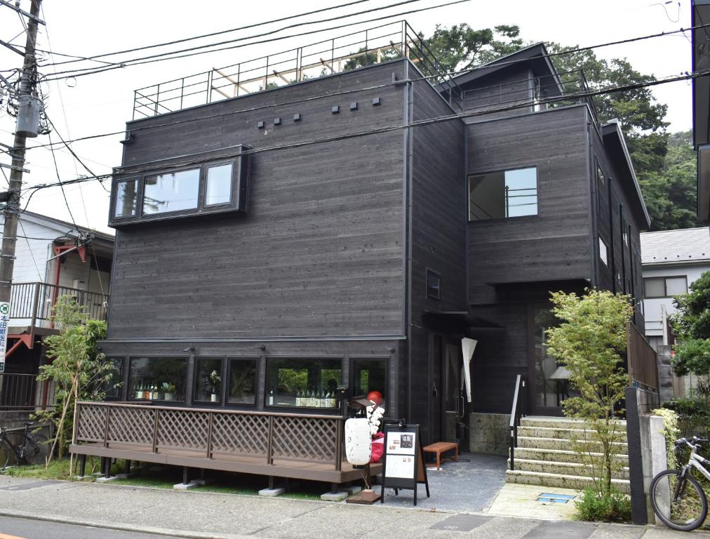
{"type": "MultiPolygon", "coordinates": [[[[588,90],[588,91],[584,91],[584,92],[565,94],[562,96],[549,97],[547,99],[537,99],[537,100],[530,99],[525,102],[516,102],[516,103],[512,103],[512,104],[506,104],[506,105],[501,105],[500,107],[491,107],[491,108],[488,108],[485,110],[467,111],[467,112],[461,112],[461,113],[447,114],[444,116],[435,116],[434,118],[429,118],[429,119],[410,121],[406,124],[394,124],[394,125],[389,125],[389,126],[381,126],[381,127],[366,129],[366,130],[362,130],[362,131],[354,131],[354,132],[344,133],[344,134],[339,134],[339,135],[334,135],[334,136],[314,138],[314,139],[305,140],[305,141],[295,141],[293,143],[278,144],[275,146],[265,146],[263,148],[251,148],[249,150],[242,151],[241,155],[252,155],[252,154],[263,153],[263,152],[267,152],[267,151],[300,148],[302,146],[310,146],[312,144],[318,144],[318,143],[329,143],[329,142],[342,141],[342,140],[346,140],[349,138],[357,138],[360,136],[382,134],[382,133],[387,133],[390,131],[398,131],[401,129],[410,129],[413,127],[438,124],[443,121],[452,121],[455,119],[473,118],[476,116],[485,116],[486,114],[496,114],[496,113],[502,112],[502,111],[510,111],[510,110],[515,110],[515,109],[530,107],[532,104],[555,104],[557,102],[569,101],[570,99],[576,99],[576,98],[581,99],[584,97],[594,97],[597,95],[611,94],[611,93],[615,93],[615,92],[626,92],[630,89],[638,89],[638,88],[642,88],[642,87],[657,86],[657,85],[667,84],[669,82],[678,82],[681,80],[691,80],[691,79],[696,79],[699,77],[707,77],[709,75],[710,75],[710,69],[701,70],[701,71],[692,72],[692,73],[685,73],[684,75],[671,75],[669,77],[664,77],[663,79],[659,79],[659,80],[652,80],[652,81],[647,81],[647,82],[636,82],[636,83],[630,84],[630,85],[607,87],[604,89],[588,90]]],[[[414,82],[414,81],[413,80],[402,80],[402,81],[399,81],[398,83],[400,85],[402,85],[402,84],[410,83],[410,82],[414,82]]],[[[233,153],[234,148],[236,148],[238,146],[241,146],[241,145],[236,145],[236,146],[231,146],[229,148],[221,148],[221,149],[222,149],[223,153],[233,153]]],[[[220,156],[214,156],[214,158],[219,158],[219,157],[220,156]]],[[[33,185],[31,187],[27,187],[27,190],[34,190],[32,193],[32,194],[34,194],[34,192],[36,192],[37,190],[47,189],[49,187],[56,187],[57,185],[71,185],[73,183],[82,183],[85,181],[97,180],[99,178],[109,179],[111,177],[116,178],[116,177],[121,177],[121,176],[137,175],[139,173],[151,172],[151,171],[155,171],[155,170],[165,170],[165,168],[184,167],[185,165],[202,163],[203,161],[204,161],[204,152],[202,152],[202,156],[200,156],[199,158],[195,158],[194,160],[181,161],[180,163],[173,163],[168,166],[161,165],[159,167],[139,168],[137,170],[125,170],[125,168],[117,168],[112,175],[109,175],[109,174],[97,175],[94,177],[77,178],[75,180],[65,180],[61,183],[33,185]]],[[[130,168],[130,166],[126,167],[126,168],[130,168]]]]}

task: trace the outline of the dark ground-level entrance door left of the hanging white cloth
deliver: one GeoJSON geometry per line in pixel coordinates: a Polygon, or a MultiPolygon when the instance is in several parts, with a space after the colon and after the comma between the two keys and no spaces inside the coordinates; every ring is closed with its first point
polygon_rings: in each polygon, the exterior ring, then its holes
{"type": "Polygon", "coordinates": [[[459,425],[468,423],[464,389],[461,386],[462,353],[461,342],[447,340],[442,350],[442,440],[445,442],[460,442],[466,447],[465,440],[458,440],[465,429],[459,425]]]}

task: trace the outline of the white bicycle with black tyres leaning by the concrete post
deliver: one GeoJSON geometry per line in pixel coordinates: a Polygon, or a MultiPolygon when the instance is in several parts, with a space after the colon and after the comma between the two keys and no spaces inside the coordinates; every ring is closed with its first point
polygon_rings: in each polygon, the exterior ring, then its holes
{"type": "Polygon", "coordinates": [[[690,448],[688,462],[681,469],[667,469],[660,472],[651,481],[648,495],[653,512],[669,528],[690,531],[699,528],[705,522],[708,513],[708,501],[705,492],[692,476],[691,469],[697,469],[710,481],[710,472],[703,464],[710,464],[697,451],[700,445],[710,442],[705,438],[681,438],[675,442],[675,450],[690,448]]]}

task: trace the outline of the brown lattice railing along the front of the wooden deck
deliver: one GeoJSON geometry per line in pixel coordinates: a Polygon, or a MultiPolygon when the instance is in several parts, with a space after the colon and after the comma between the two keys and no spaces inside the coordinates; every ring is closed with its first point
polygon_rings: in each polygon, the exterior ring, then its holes
{"type": "Polygon", "coordinates": [[[103,447],[295,460],[342,465],[342,418],[332,415],[77,403],[72,442],[103,447]]]}

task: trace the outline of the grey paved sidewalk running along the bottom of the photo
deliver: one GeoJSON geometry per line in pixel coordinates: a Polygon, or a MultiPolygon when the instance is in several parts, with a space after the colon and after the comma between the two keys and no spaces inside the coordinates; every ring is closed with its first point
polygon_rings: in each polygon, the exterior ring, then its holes
{"type": "MultiPolygon", "coordinates": [[[[476,488],[471,485],[471,488],[476,488]]],[[[672,539],[662,527],[0,477],[0,516],[190,538],[672,539]]],[[[1,532],[2,530],[0,530],[1,532]]],[[[709,534],[696,532],[701,537],[709,534]]]]}

